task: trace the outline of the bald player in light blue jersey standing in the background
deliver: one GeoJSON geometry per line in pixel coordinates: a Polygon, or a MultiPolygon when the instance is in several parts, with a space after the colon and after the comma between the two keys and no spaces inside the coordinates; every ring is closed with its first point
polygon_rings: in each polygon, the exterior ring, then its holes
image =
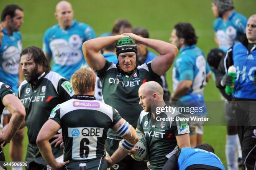
{"type": "Polygon", "coordinates": [[[56,5],[54,16],[58,24],[44,33],[43,50],[49,62],[53,58],[52,71],[70,80],[72,74],[86,64],[82,43],[95,38],[96,35],[89,25],[73,19],[74,11],[67,1],[56,5]]]}

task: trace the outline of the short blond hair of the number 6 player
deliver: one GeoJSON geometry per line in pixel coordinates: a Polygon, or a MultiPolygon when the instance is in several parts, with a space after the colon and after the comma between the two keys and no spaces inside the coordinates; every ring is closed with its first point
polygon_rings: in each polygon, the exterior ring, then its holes
{"type": "Polygon", "coordinates": [[[96,74],[87,66],[82,66],[74,72],[71,78],[75,94],[84,94],[95,90],[96,74]]]}

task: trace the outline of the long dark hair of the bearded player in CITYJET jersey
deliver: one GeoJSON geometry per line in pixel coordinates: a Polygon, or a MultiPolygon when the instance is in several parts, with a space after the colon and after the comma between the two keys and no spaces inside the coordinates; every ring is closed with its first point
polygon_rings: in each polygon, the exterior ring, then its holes
{"type": "Polygon", "coordinates": [[[44,51],[41,50],[41,48],[38,48],[35,46],[27,47],[20,53],[20,57],[25,54],[30,54],[31,59],[32,58],[34,59],[37,66],[41,65],[43,67],[44,71],[51,70],[51,67],[46,59],[46,56],[44,55],[44,51]]]}

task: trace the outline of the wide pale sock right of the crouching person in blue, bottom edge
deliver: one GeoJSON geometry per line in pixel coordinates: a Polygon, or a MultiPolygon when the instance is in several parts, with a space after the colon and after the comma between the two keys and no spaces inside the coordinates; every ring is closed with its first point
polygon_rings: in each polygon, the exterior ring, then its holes
{"type": "Polygon", "coordinates": [[[228,170],[237,170],[237,134],[226,136],[225,153],[227,159],[228,170]]]}

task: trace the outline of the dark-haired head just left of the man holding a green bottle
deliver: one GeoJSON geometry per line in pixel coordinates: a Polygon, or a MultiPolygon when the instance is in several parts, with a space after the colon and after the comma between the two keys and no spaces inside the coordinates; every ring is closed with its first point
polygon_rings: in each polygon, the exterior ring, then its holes
{"type": "Polygon", "coordinates": [[[215,70],[217,70],[223,56],[225,56],[224,51],[220,50],[219,48],[213,48],[207,54],[207,62],[209,63],[209,65],[211,67],[213,67],[215,70]]]}

